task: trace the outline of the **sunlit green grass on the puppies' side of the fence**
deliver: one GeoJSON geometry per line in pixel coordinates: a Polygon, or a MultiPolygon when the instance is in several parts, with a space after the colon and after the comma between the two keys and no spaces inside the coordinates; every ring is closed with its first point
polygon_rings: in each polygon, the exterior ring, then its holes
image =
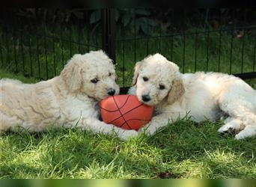
{"type": "MultiPolygon", "coordinates": [[[[38,81],[0,71],[2,77],[38,81]]],[[[220,135],[220,126],[180,120],[129,141],[79,129],[6,132],[0,178],[255,178],[256,138],[237,141],[220,135]]]]}

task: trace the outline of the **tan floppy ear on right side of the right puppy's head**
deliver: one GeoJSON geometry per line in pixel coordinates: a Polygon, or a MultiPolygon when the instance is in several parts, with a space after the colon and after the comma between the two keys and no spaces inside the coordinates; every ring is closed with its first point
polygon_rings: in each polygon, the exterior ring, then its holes
{"type": "Polygon", "coordinates": [[[172,82],[171,90],[168,93],[168,103],[171,105],[172,103],[176,102],[181,98],[181,96],[183,96],[184,93],[185,88],[183,85],[183,80],[180,78],[180,76],[178,76],[172,82]]]}

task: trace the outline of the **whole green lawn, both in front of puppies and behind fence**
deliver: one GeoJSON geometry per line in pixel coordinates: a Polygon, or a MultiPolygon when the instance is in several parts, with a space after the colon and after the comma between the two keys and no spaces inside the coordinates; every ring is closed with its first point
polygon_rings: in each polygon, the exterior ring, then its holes
{"type": "MultiPolygon", "coordinates": [[[[65,34],[68,33],[63,31],[62,37],[65,34]]],[[[76,40],[79,38],[75,30],[72,34],[76,40]]],[[[246,34],[243,40],[233,38],[232,52],[231,39],[223,32],[219,48],[219,32],[209,36],[192,34],[185,37],[184,48],[184,36],[141,38],[136,43],[118,37],[118,83],[129,86],[135,61],[154,52],[161,52],[179,64],[181,72],[196,69],[240,73],[242,67],[243,72],[253,71],[255,44],[251,35],[246,34]]],[[[86,41],[86,37],[83,40],[86,41]]],[[[46,67],[48,77],[55,76],[55,70],[58,74],[71,55],[88,50],[88,46],[76,43],[72,43],[70,49],[68,40],[62,43],[61,40],[52,42],[51,39],[44,41],[40,37],[31,37],[27,42],[29,45],[22,46],[22,49],[13,37],[7,39],[8,46],[6,41],[2,44],[0,78],[38,82],[46,79],[46,67]],[[38,46],[37,42],[42,45],[38,46]],[[47,51],[43,46],[47,46],[47,51]]],[[[97,38],[94,42],[97,45],[97,38]]],[[[256,79],[248,82],[256,88],[256,79]]],[[[222,121],[194,123],[183,119],[168,124],[151,137],[141,134],[129,141],[121,141],[115,136],[93,135],[79,129],[7,132],[0,137],[0,177],[255,178],[256,138],[237,141],[234,136],[220,135],[217,132],[220,126],[222,121]]]]}

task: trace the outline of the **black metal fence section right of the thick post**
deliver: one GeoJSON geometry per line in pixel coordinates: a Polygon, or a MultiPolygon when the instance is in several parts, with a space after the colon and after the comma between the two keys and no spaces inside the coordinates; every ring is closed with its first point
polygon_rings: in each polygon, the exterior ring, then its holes
{"type": "MultiPolygon", "coordinates": [[[[158,16],[165,22],[152,22],[147,12],[130,11],[131,29],[121,27],[117,34],[121,37],[116,38],[115,54],[121,70],[132,71],[134,62],[159,52],[178,64],[183,73],[215,71],[255,78],[255,15],[235,9],[228,10],[229,16],[226,9],[198,11],[194,15],[193,11],[161,9],[158,16]]],[[[127,76],[131,75],[122,74],[123,87],[130,85],[127,76]]]]}

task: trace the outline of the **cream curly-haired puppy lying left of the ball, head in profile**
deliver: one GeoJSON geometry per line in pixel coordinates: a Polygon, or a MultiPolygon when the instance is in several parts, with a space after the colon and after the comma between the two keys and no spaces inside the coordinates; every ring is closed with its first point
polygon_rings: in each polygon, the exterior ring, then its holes
{"type": "Polygon", "coordinates": [[[74,55],[56,76],[37,84],[0,80],[0,130],[40,132],[49,126],[91,129],[127,139],[136,135],[99,120],[97,103],[119,93],[115,67],[103,51],[74,55]]]}

